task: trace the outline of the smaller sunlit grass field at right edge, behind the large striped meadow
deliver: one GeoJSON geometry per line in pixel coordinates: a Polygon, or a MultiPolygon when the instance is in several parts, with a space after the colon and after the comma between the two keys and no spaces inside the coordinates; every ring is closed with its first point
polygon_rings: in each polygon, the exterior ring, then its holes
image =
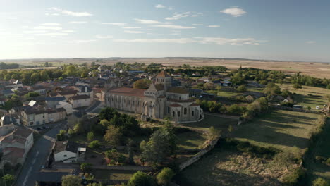
{"type": "Polygon", "coordinates": [[[281,89],[288,89],[290,92],[295,93],[293,100],[302,106],[310,106],[313,110],[316,106],[323,108],[324,104],[327,104],[326,95],[330,94],[329,89],[320,87],[310,87],[302,85],[302,89],[294,89],[292,84],[279,85],[281,89]],[[312,95],[308,95],[312,94],[312,95]]]}

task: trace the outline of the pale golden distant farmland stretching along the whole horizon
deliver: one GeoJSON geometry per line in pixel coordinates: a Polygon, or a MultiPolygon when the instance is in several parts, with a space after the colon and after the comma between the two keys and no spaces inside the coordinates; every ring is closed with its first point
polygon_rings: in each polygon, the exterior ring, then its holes
{"type": "MultiPolygon", "coordinates": [[[[56,58],[56,59],[29,59],[29,60],[8,60],[6,63],[20,63],[24,65],[40,65],[44,62],[51,62],[56,66],[73,63],[92,63],[97,58],[56,58]]],[[[239,66],[262,68],[267,70],[280,70],[286,73],[301,72],[319,78],[330,79],[330,63],[307,63],[292,61],[262,61],[247,59],[221,59],[221,58],[102,58],[99,64],[112,65],[119,61],[123,63],[162,63],[164,66],[226,66],[230,69],[237,69],[239,66]]],[[[1,61],[0,61],[1,62],[1,61]]]]}

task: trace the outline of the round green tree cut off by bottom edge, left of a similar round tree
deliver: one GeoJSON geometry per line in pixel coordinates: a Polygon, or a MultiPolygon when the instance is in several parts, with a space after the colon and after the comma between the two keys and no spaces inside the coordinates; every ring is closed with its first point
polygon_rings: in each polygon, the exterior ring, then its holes
{"type": "Polygon", "coordinates": [[[127,183],[127,186],[154,186],[156,182],[151,175],[147,175],[141,171],[134,173],[127,183]]]}

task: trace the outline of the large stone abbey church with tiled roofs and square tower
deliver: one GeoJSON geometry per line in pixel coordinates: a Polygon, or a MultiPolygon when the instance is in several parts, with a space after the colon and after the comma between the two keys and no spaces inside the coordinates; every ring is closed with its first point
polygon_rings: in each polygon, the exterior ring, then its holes
{"type": "Polygon", "coordinates": [[[189,99],[189,92],[182,87],[171,86],[171,75],[161,71],[148,89],[108,87],[106,106],[140,113],[142,118],[166,118],[177,123],[196,122],[204,118],[200,105],[189,99]]]}

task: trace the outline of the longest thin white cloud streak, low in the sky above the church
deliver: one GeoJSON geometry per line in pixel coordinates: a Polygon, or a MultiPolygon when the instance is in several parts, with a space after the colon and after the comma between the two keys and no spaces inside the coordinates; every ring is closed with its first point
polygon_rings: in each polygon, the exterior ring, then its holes
{"type": "Polygon", "coordinates": [[[260,42],[256,39],[250,38],[224,38],[224,37],[195,37],[195,38],[178,38],[178,39],[114,39],[115,42],[137,42],[137,43],[175,43],[175,44],[187,44],[187,43],[200,43],[200,44],[230,44],[230,45],[259,45],[260,42]]]}

